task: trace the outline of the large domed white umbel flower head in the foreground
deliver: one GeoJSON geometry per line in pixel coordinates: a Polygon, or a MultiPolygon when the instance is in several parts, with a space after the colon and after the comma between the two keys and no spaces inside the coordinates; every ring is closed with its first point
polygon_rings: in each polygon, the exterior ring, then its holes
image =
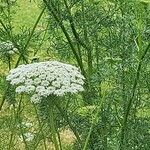
{"type": "Polygon", "coordinates": [[[6,80],[17,86],[17,93],[31,94],[34,103],[51,94],[63,96],[84,90],[84,77],[78,68],[58,61],[20,65],[10,70],[6,80]]]}

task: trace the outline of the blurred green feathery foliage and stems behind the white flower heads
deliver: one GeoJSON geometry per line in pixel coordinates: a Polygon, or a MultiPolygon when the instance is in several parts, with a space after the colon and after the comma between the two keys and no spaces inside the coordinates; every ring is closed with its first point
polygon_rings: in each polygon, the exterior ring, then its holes
{"type": "Polygon", "coordinates": [[[150,149],[149,0],[0,0],[6,41],[18,52],[0,50],[0,149],[54,149],[46,109],[5,80],[20,64],[46,60],[76,65],[86,78],[83,93],[57,100],[62,149],[150,149]],[[27,132],[34,140],[21,141],[27,132]]]}

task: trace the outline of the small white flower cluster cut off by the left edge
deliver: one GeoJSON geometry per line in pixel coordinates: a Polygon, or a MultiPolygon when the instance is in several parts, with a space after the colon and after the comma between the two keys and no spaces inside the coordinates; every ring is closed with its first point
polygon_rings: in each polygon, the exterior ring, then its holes
{"type": "Polygon", "coordinates": [[[14,47],[14,45],[11,41],[0,42],[0,52],[5,52],[10,55],[13,55],[17,51],[18,51],[18,49],[14,47]]]}

